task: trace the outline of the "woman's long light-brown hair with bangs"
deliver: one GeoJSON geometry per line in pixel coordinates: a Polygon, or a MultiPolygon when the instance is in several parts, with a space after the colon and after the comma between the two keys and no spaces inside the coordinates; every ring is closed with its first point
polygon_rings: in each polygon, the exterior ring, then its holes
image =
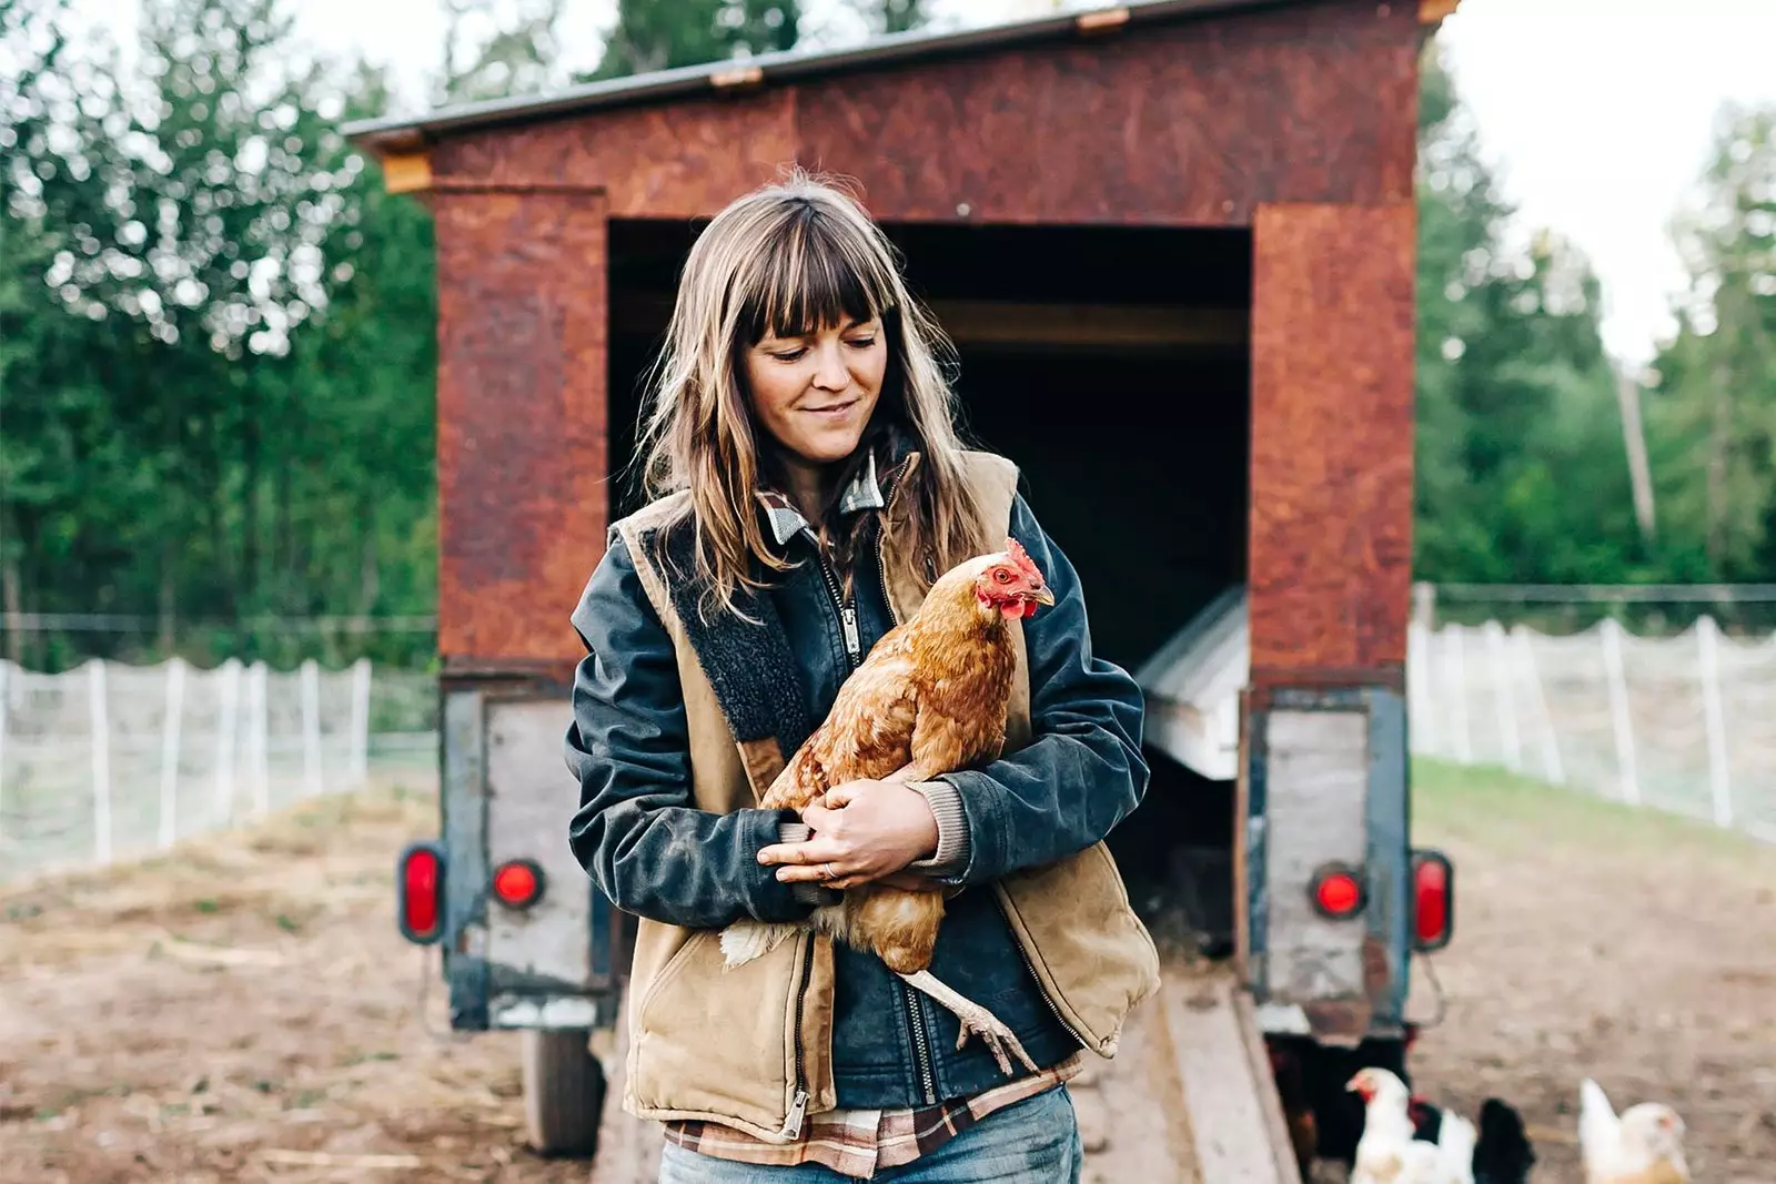
{"type": "MultiPolygon", "coordinates": [[[[691,247],[638,442],[646,492],[689,493],[693,575],[705,589],[705,611],[737,611],[739,589],[760,586],[753,563],[790,566],[765,545],[760,525],[755,492],[780,479],[780,446],[753,419],[746,351],[765,334],[796,337],[876,316],[888,339],[888,369],[833,497],[865,454],[874,453],[877,472],[886,474],[897,444],[906,442],[920,460],[895,493],[895,531],[913,568],[904,575],[929,586],[984,550],[940,364],[948,339],[908,293],[893,245],[863,208],[796,170],[732,202],[691,247]]],[[[828,506],[815,527],[849,556],[867,517],[845,527],[828,506]]]]}

